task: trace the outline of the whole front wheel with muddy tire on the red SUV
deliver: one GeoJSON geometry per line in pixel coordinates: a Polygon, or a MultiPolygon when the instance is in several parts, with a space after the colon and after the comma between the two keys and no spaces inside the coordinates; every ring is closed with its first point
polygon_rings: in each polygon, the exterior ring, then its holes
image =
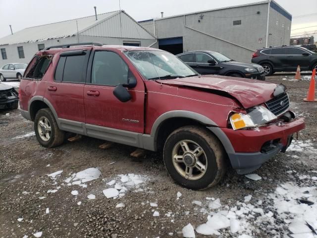
{"type": "Polygon", "coordinates": [[[163,157],[169,175],[191,189],[215,186],[225,174],[226,153],[222,144],[199,126],[174,130],[166,139],[163,157]]]}

